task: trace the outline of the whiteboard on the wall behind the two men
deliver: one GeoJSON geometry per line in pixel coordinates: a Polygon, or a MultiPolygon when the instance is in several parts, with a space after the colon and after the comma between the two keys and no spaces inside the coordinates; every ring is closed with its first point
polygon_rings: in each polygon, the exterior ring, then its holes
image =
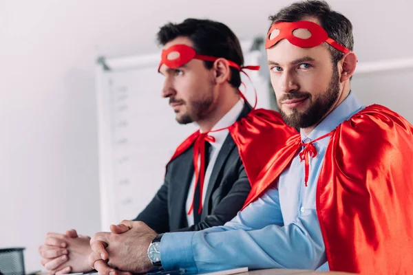
{"type": "MultiPolygon", "coordinates": [[[[262,39],[242,41],[245,65],[265,61],[262,39]],[[256,44],[256,45],[255,45],[256,44]],[[251,51],[251,48],[255,50],[251,51]]],[[[198,128],[180,125],[168,100],[161,97],[160,53],[100,58],[96,65],[101,228],[134,219],[163,184],[165,166],[176,147],[198,128]]],[[[266,66],[242,75],[251,104],[274,106],[266,66]]]]}

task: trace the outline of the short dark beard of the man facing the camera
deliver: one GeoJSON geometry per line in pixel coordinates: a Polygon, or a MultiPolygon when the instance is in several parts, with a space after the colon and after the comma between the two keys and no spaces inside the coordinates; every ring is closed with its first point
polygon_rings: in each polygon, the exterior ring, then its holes
{"type": "Polygon", "coordinates": [[[282,98],[277,100],[277,105],[279,108],[279,113],[282,115],[282,118],[286,122],[286,124],[293,126],[294,128],[308,128],[317,124],[321,118],[326,115],[326,113],[330,110],[333,104],[337,101],[340,94],[340,83],[339,83],[339,72],[336,66],[334,66],[334,70],[332,72],[332,77],[330,79],[330,83],[328,85],[328,89],[324,94],[321,94],[318,98],[313,100],[313,95],[308,92],[297,91],[297,93],[290,93],[285,94],[282,98]],[[280,108],[283,100],[293,99],[293,98],[303,98],[308,97],[310,102],[313,104],[308,107],[304,113],[300,113],[297,109],[292,109],[293,113],[287,115],[282,111],[280,108]]]}

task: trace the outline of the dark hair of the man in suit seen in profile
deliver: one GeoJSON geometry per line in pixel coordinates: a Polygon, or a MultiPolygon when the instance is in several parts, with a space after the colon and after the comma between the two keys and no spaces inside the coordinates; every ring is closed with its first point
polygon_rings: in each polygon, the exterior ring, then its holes
{"type": "MultiPolygon", "coordinates": [[[[180,36],[188,37],[193,42],[197,54],[222,57],[229,61],[244,65],[240,41],[237,36],[224,24],[207,19],[186,19],[182,23],[167,23],[163,25],[157,39],[160,45],[180,36]]],[[[213,62],[204,61],[207,69],[213,67],[213,62]]],[[[235,88],[241,85],[240,72],[231,68],[231,80],[229,83],[235,88]]]]}

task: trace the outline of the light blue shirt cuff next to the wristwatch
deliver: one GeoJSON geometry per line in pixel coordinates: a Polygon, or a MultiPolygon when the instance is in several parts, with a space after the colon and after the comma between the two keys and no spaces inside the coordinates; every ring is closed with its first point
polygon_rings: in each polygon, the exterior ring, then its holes
{"type": "Polygon", "coordinates": [[[192,251],[195,232],[165,233],[160,240],[160,261],[164,270],[183,268],[188,274],[197,274],[192,251]]]}

